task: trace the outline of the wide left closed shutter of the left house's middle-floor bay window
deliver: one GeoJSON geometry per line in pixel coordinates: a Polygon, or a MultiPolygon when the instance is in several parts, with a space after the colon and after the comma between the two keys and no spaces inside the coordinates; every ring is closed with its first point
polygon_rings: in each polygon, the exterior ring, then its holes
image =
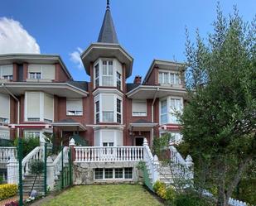
{"type": "Polygon", "coordinates": [[[26,93],[27,117],[40,118],[40,93],[26,93]]]}

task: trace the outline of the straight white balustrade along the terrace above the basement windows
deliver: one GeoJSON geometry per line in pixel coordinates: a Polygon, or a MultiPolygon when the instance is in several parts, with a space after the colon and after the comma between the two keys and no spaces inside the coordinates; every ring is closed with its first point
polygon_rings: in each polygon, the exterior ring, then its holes
{"type": "Polygon", "coordinates": [[[75,146],[76,162],[139,161],[142,146],[75,146]]]}

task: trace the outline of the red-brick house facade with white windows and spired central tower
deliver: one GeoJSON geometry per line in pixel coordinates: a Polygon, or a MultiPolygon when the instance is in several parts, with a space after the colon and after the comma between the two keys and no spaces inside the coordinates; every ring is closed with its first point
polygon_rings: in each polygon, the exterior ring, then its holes
{"type": "MultiPolygon", "coordinates": [[[[75,81],[59,55],[0,55],[0,138],[54,133],[68,145],[142,146],[171,133],[181,141],[176,112],[186,103],[185,65],[152,60],[133,83],[133,57],[118,42],[109,5],[98,41],[82,54],[90,81],[75,81]]],[[[135,73],[138,71],[135,71],[135,73]]]]}

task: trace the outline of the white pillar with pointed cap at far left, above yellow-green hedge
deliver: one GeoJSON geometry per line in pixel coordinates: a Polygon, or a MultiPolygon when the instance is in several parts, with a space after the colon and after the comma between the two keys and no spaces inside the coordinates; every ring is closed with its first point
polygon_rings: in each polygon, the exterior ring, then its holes
{"type": "Polygon", "coordinates": [[[7,183],[8,184],[18,184],[19,180],[19,164],[17,159],[12,156],[7,163],[7,183]]]}

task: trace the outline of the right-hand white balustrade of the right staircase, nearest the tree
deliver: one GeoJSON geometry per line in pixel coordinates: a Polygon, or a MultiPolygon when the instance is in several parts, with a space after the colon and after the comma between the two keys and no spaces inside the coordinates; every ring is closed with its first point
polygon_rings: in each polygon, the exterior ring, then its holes
{"type": "Polygon", "coordinates": [[[179,175],[186,180],[193,180],[194,179],[194,171],[193,171],[193,160],[190,155],[186,156],[186,160],[183,159],[181,154],[176,150],[175,146],[173,146],[172,142],[170,141],[169,144],[170,149],[170,159],[171,159],[171,166],[175,170],[173,171],[173,175],[179,175]]]}

